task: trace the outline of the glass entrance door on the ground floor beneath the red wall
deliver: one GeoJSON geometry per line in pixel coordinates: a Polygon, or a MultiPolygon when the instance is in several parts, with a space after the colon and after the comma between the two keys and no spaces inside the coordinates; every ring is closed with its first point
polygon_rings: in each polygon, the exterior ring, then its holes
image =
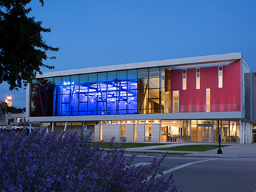
{"type": "Polygon", "coordinates": [[[197,125],[198,142],[213,142],[212,125],[197,125]]]}

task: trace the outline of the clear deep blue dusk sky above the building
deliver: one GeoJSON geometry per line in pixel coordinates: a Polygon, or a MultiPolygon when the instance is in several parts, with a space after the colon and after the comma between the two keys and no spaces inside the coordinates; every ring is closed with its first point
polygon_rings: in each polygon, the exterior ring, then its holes
{"type": "MultiPolygon", "coordinates": [[[[30,3],[42,34],[58,46],[52,71],[242,52],[256,71],[256,1],[39,0],[30,3]]],[[[42,72],[49,72],[42,69],[42,72]]],[[[0,100],[26,106],[26,90],[1,84],[0,100]]]]}

